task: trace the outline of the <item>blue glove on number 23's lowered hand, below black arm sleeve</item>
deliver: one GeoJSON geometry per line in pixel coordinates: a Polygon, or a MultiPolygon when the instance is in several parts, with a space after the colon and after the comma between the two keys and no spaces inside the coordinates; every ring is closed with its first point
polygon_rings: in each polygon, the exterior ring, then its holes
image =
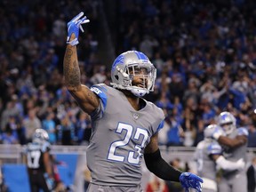
{"type": "Polygon", "coordinates": [[[182,172],[180,175],[180,184],[182,188],[185,188],[186,192],[189,192],[189,188],[195,188],[196,192],[202,191],[202,185],[204,181],[196,174],[191,172],[182,172]]]}

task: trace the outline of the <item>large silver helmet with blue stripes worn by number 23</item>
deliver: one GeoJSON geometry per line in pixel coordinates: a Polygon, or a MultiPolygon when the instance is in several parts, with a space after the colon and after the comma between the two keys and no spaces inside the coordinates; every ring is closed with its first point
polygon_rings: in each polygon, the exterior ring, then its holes
{"type": "Polygon", "coordinates": [[[114,61],[111,79],[113,87],[131,91],[135,96],[142,97],[154,91],[156,68],[144,53],[128,51],[120,54],[114,61]],[[146,74],[137,73],[141,68],[146,71],[146,74]],[[143,79],[141,87],[132,85],[134,76],[141,76],[143,79]]]}

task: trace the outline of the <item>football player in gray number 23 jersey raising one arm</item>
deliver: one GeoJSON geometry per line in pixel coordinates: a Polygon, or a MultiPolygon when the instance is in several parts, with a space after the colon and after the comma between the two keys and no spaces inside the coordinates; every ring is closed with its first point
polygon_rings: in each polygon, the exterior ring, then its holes
{"type": "Polygon", "coordinates": [[[88,88],[80,82],[76,44],[81,24],[89,22],[80,12],[68,22],[64,76],[68,91],[84,112],[92,117],[92,137],[87,149],[87,165],[92,173],[88,191],[142,191],[141,161],[163,180],[181,183],[183,188],[201,191],[203,180],[190,172],[180,172],[166,163],[158,148],[157,132],[164,112],[143,100],[154,90],[156,68],[142,52],[119,55],[111,69],[112,86],[96,84],[88,88]]]}

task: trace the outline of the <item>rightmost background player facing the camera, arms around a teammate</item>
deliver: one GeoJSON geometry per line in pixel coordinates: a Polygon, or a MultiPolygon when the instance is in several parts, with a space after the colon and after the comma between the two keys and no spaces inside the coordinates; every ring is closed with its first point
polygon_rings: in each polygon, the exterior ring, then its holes
{"type": "MultiPolygon", "coordinates": [[[[212,137],[220,143],[224,149],[223,155],[229,161],[244,159],[246,162],[247,136],[248,131],[244,127],[236,129],[236,118],[231,113],[225,111],[218,116],[218,124],[226,132],[216,130],[212,137]]],[[[236,171],[223,170],[221,172],[219,192],[241,192],[247,190],[246,169],[236,171]],[[243,185],[241,185],[243,183],[243,185]]]]}

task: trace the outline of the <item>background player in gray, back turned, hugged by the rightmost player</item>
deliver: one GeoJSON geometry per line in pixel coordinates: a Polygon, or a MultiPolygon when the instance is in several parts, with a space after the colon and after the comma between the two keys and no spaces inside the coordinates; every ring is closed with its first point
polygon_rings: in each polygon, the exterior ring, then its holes
{"type": "Polygon", "coordinates": [[[204,129],[204,140],[196,146],[195,159],[197,163],[197,173],[204,180],[204,192],[216,192],[216,172],[218,168],[226,171],[235,171],[244,169],[243,159],[231,162],[222,156],[220,144],[212,139],[213,132],[225,132],[217,124],[210,124],[204,129]]]}

